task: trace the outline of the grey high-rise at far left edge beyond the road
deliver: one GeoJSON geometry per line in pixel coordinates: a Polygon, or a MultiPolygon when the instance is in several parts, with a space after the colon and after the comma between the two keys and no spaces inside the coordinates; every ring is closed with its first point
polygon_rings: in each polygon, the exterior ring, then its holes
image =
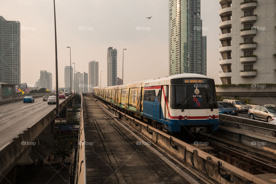
{"type": "Polygon", "coordinates": [[[0,82],[18,85],[20,67],[20,22],[0,16],[0,82]]]}

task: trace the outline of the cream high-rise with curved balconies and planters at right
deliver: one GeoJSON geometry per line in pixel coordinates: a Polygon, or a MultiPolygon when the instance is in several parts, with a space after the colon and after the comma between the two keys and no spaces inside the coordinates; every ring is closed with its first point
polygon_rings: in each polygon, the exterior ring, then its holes
{"type": "Polygon", "coordinates": [[[276,2],[221,0],[219,3],[221,82],[275,83],[276,2]]]}

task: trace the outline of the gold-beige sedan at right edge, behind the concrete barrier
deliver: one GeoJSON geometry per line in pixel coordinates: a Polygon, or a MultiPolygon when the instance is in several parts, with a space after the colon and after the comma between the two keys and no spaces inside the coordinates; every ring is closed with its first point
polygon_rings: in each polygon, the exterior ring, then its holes
{"type": "Polygon", "coordinates": [[[264,120],[270,122],[276,118],[276,107],[256,106],[248,111],[250,119],[264,120]]]}

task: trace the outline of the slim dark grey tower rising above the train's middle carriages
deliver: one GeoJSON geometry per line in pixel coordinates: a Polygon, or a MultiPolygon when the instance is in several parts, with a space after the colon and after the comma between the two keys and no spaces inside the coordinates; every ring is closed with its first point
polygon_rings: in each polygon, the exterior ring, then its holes
{"type": "Polygon", "coordinates": [[[113,47],[107,49],[107,85],[117,85],[117,49],[113,47]]]}

